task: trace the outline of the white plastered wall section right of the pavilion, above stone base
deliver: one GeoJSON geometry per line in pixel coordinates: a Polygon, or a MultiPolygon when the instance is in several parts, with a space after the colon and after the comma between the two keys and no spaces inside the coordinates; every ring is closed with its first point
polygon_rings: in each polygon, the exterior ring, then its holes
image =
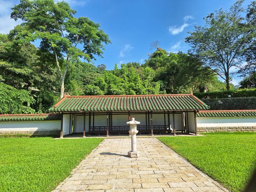
{"type": "Polygon", "coordinates": [[[197,117],[198,127],[250,127],[256,126],[256,117],[197,117]]]}

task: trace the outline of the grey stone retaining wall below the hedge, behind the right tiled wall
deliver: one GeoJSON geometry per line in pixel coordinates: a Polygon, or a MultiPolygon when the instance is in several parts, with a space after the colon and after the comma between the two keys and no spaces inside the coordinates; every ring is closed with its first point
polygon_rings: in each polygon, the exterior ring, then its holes
{"type": "Polygon", "coordinates": [[[201,100],[210,107],[210,110],[256,109],[256,97],[234,97],[201,100]]]}

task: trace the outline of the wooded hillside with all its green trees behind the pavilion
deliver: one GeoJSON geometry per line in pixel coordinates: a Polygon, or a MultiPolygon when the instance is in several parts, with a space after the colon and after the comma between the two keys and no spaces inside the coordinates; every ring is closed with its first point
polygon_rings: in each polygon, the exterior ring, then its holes
{"type": "Polygon", "coordinates": [[[93,65],[95,55],[102,57],[104,44],[111,43],[99,23],[74,17],[76,11],[65,2],[20,1],[11,17],[23,23],[0,34],[0,114],[47,113],[65,94],[219,94],[255,88],[256,3],[245,10],[242,2],[229,12],[208,15],[206,26],[195,26],[186,38],[192,47],[188,53],[167,52],[155,41],[143,63],[116,64],[106,70],[105,64],[93,65]],[[221,37],[219,30],[225,31],[221,37]],[[40,42],[38,48],[35,41],[40,42]],[[240,87],[230,83],[231,67],[244,77],[240,87]]]}

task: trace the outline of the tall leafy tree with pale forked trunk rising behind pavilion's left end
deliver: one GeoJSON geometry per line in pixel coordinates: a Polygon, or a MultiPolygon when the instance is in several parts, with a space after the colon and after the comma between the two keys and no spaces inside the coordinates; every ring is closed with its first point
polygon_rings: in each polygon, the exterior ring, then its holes
{"type": "Polygon", "coordinates": [[[87,17],[75,18],[76,11],[64,1],[20,0],[12,10],[11,18],[15,21],[21,19],[23,23],[17,25],[10,36],[17,44],[41,40],[39,49],[48,57],[55,58],[58,66],[61,98],[70,61],[78,61],[79,58],[96,60],[93,55],[102,57],[102,43],[111,43],[99,23],[93,23],[87,17]],[[83,50],[78,48],[79,44],[83,50]]]}

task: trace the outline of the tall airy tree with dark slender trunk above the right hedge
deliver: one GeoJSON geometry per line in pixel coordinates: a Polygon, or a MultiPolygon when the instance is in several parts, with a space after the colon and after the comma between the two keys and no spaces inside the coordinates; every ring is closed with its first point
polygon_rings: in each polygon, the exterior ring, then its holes
{"type": "Polygon", "coordinates": [[[250,32],[244,27],[246,21],[241,15],[243,2],[237,1],[229,11],[220,9],[204,17],[206,25],[195,26],[185,38],[192,47],[190,52],[226,81],[227,90],[230,89],[230,68],[241,64],[241,54],[250,44],[250,32]]]}

